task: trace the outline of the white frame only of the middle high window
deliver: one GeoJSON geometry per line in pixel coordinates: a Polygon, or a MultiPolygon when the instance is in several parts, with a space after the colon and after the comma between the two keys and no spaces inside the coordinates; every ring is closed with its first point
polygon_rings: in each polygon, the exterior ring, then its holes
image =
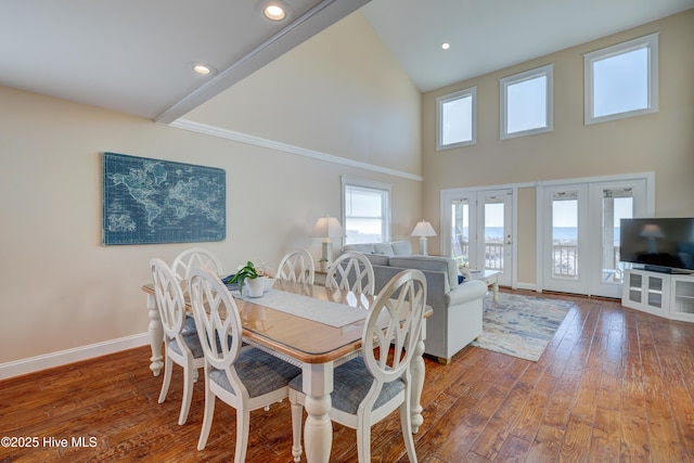
{"type": "Polygon", "coordinates": [[[536,133],[551,132],[554,130],[554,65],[548,64],[547,66],[538,67],[535,69],[526,70],[524,73],[515,74],[513,76],[499,79],[499,92],[500,92],[500,138],[501,140],[513,139],[517,137],[534,136],[536,133]],[[509,87],[515,83],[522,83],[527,80],[532,80],[538,77],[547,77],[545,86],[545,126],[538,127],[536,129],[522,130],[513,133],[509,133],[509,119],[507,119],[507,105],[509,105],[509,87]]]}

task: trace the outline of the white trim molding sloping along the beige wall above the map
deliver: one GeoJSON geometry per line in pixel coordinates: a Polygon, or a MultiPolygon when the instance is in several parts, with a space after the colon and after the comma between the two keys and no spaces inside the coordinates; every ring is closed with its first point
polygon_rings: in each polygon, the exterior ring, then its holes
{"type": "Polygon", "coordinates": [[[339,164],[342,166],[354,167],[357,169],[370,170],[372,172],[386,173],[388,176],[401,177],[409,180],[421,182],[422,176],[416,176],[401,170],[389,169],[387,167],[375,166],[373,164],[362,163],[359,160],[348,159],[346,157],[335,156],[333,154],[322,153],[320,151],[308,150],[274,140],[268,140],[260,137],[241,133],[221,127],[209,126],[207,124],[195,123],[193,120],[178,119],[169,124],[169,127],[177,129],[190,130],[192,132],[202,133],[210,137],[218,137],[226,140],[232,140],[240,143],[247,143],[254,146],[267,147],[269,150],[281,151],[284,153],[296,154],[299,156],[310,157],[312,159],[324,160],[326,163],[339,164]]]}

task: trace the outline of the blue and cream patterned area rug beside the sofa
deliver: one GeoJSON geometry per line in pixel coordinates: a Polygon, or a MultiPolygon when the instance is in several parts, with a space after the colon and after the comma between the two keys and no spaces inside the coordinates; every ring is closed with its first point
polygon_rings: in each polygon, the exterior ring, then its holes
{"type": "Polygon", "coordinates": [[[537,362],[574,306],[565,300],[500,293],[484,299],[483,334],[471,344],[537,362]]]}

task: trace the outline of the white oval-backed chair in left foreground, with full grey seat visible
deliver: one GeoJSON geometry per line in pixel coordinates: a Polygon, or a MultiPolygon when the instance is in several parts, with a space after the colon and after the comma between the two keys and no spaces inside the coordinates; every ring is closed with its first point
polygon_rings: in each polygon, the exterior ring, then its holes
{"type": "Polygon", "coordinates": [[[219,276],[195,268],[190,280],[195,326],[205,352],[205,415],[197,450],[207,443],[215,400],[236,409],[234,462],[245,461],[250,411],[278,402],[301,370],[255,347],[242,346],[239,308],[219,276]],[[227,342],[220,342],[227,339],[227,342]]]}

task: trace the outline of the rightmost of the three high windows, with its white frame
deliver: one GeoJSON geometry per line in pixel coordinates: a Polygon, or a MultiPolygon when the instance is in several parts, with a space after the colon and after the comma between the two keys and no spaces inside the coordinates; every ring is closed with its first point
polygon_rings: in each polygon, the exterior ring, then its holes
{"type": "Polygon", "coordinates": [[[658,35],[583,55],[586,125],[658,111],[658,35]]]}

